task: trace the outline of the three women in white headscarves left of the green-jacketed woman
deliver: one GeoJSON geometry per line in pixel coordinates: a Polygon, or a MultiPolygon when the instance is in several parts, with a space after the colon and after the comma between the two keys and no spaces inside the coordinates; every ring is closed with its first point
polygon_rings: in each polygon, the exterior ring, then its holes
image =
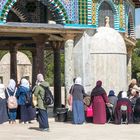
{"type": "Polygon", "coordinates": [[[31,94],[31,88],[25,78],[21,79],[18,87],[14,79],[9,80],[6,88],[4,84],[0,84],[0,123],[6,121],[9,121],[10,124],[16,123],[17,114],[21,123],[29,123],[35,118],[35,110],[32,105],[26,104],[27,94],[31,94]],[[12,102],[11,100],[13,100],[13,104],[17,105],[8,106],[12,102]]]}

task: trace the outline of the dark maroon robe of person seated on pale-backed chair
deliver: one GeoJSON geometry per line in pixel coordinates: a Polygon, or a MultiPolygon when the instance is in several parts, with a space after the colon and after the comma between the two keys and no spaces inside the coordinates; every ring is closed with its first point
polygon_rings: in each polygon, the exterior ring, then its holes
{"type": "Polygon", "coordinates": [[[131,123],[133,121],[132,103],[127,98],[120,98],[117,101],[117,105],[115,108],[115,123],[121,124],[121,119],[122,119],[121,106],[122,105],[127,106],[127,116],[126,117],[127,117],[128,123],[131,123]]]}

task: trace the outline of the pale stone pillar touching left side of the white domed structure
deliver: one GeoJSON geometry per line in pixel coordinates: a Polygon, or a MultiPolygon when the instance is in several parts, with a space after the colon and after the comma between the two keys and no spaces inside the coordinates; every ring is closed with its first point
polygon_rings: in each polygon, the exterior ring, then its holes
{"type": "MultiPolygon", "coordinates": [[[[67,35],[65,41],[65,89],[66,96],[69,93],[70,87],[73,85],[74,78],[74,58],[73,58],[73,48],[74,48],[74,35],[67,35]]],[[[66,97],[67,98],[67,97],[66,97]]]]}

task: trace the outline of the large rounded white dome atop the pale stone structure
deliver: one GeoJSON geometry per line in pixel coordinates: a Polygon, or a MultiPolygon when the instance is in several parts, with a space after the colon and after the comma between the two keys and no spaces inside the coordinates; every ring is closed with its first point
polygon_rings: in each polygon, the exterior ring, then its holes
{"type": "Polygon", "coordinates": [[[123,37],[113,28],[100,27],[92,37],[91,53],[126,54],[123,37]]]}

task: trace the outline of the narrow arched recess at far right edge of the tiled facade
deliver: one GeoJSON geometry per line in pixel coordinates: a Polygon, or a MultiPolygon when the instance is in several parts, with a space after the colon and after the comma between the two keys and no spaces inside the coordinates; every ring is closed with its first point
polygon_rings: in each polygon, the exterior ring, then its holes
{"type": "Polygon", "coordinates": [[[134,20],[131,12],[128,15],[128,35],[135,38],[134,20]]]}

